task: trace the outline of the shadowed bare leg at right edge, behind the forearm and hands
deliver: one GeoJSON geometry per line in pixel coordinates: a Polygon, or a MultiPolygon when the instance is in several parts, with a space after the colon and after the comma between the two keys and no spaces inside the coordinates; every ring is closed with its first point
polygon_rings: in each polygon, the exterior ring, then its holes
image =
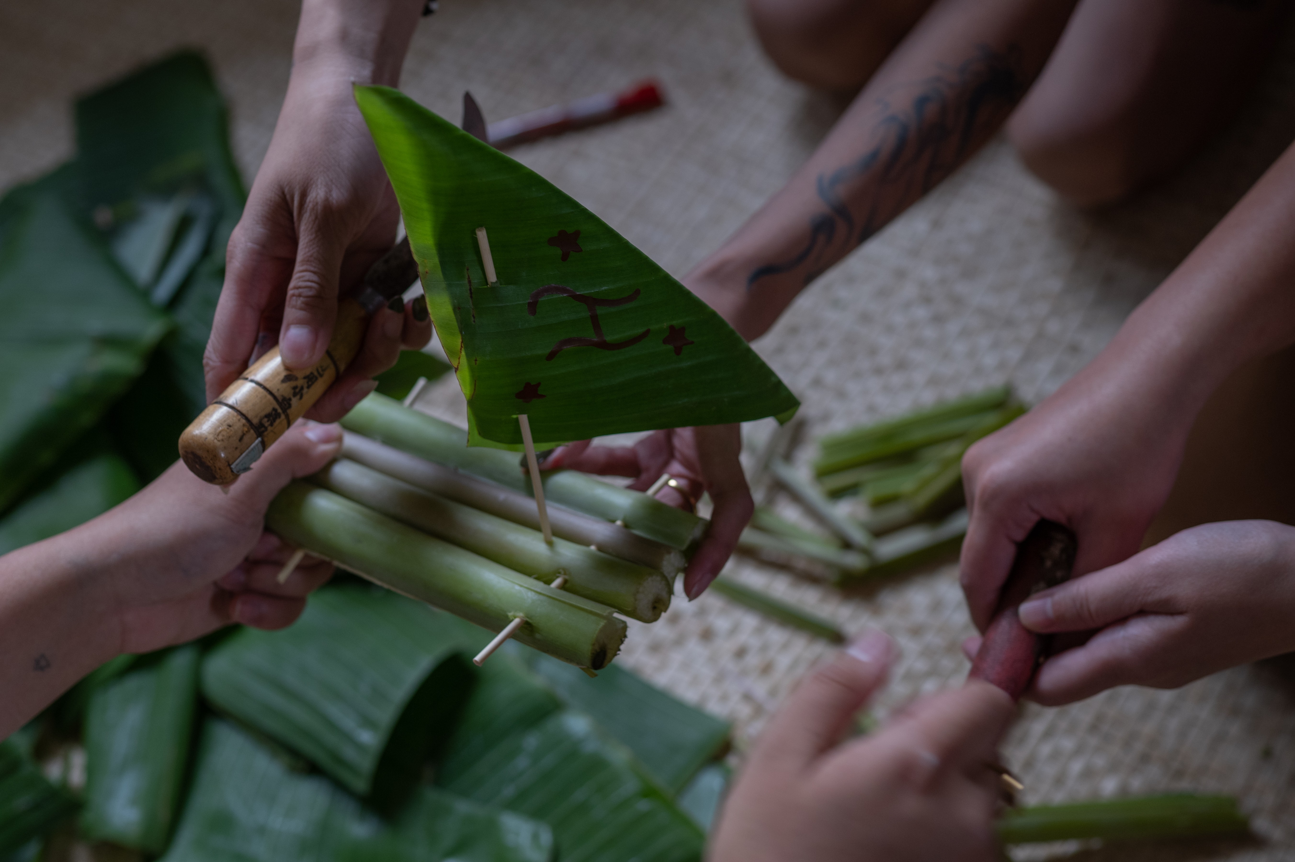
{"type": "Polygon", "coordinates": [[[1295,524],[1295,347],[1238,369],[1197,418],[1143,544],[1215,520],[1295,524]]]}

